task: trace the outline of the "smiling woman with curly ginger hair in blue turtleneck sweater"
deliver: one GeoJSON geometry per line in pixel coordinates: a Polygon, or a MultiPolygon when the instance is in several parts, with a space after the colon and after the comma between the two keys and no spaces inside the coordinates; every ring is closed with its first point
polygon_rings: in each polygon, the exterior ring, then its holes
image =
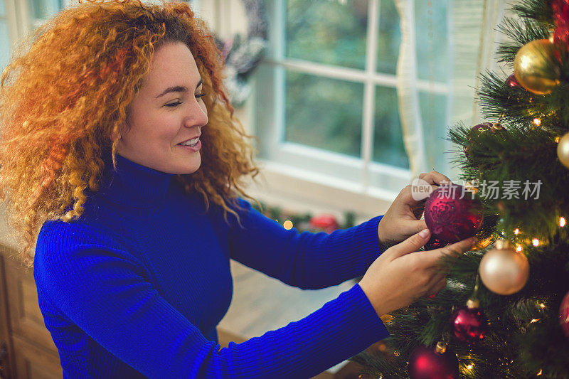
{"type": "Polygon", "coordinates": [[[248,136],[186,4],[90,1],[22,51],[1,77],[0,189],[65,378],[316,375],[388,336],[379,316],[444,287],[437,261],[472,245],[415,253],[430,234],[409,188],[331,235],[253,210],[248,136]],[[304,289],[365,274],[306,318],[220,348],[230,258],[304,289]]]}

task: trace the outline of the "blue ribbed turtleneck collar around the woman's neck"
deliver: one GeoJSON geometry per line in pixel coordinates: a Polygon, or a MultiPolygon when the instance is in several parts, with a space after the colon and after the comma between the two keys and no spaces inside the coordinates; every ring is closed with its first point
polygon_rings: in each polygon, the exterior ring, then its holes
{"type": "Polygon", "coordinates": [[[174,174],[150,169],[116,155],[117,171],[110,152],[103,154],[105,170],[97,193],[128,208],[148,208],[161,203],[174,174]]]}

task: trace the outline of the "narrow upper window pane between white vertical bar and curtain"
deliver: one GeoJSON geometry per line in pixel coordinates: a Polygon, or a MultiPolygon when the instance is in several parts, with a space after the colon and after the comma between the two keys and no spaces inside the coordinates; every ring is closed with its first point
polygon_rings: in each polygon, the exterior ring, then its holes
{"type": "Polygon", "coordinates": [[[379,9],[378,73],[395,74],[401,43],[399,14],[395,1],[381,0],[379,9]]]}

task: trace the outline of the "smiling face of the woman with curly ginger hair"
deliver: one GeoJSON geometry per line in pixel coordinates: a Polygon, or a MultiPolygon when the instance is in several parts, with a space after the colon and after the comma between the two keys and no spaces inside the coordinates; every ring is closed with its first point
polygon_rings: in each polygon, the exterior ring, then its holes
{"type": "Polygon", "coordinates": [[[201,127],[208,123],[201,75],[188,47],[165,43],[130,104],[130,128],[120,132],[117,153],[134,163],[169,174],[191,174],[201,164],[201,127]]]}

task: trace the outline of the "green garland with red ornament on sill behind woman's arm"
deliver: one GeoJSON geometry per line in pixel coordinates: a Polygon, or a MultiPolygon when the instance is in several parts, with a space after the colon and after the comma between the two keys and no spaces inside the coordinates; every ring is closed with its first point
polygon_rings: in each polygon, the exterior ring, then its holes
{"type": "Polygon", "coordinates": [[[286,229],[296,228],[299,232],[326,232],[331,233],[336,229],[347,229],[356,225],[356,213],[344,212],[344,221],[339,221],[330,214],[313,215],[312,213],[294,213],[289,210],[282,210],[280,207],[271,207],[260,202],[260,207],[252,203],[252,207],[268,218],[272,218],[286,229]]]}

